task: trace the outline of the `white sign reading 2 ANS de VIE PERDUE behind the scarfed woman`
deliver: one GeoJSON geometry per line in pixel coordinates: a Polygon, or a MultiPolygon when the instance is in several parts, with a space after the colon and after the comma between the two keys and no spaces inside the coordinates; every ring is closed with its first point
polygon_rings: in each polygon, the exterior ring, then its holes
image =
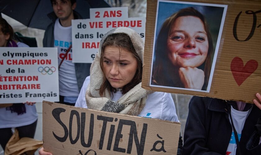
{"type": "Polygon", "coordinates": [[[145,17],[128,18],[128,7],[91,8],[90,19],[72,20],[72,61],[92,63],[103,35],[117,27],[129,27],[145,39],[145,17]]]}

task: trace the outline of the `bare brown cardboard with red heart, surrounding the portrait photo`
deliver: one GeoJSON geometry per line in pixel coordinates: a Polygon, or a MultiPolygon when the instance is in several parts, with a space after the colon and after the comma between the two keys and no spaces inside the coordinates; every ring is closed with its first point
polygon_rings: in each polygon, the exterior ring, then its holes
{"type": "Polygon", "coordinates": [[[252,103],[252,100],[256,98],[255,94],[261,91],[261,1],[187,0],[177,2],[227,5],[210,91],[208,93],[150,86],[157,0],[147,1],[142,87],[153,91],[252,103]]]}

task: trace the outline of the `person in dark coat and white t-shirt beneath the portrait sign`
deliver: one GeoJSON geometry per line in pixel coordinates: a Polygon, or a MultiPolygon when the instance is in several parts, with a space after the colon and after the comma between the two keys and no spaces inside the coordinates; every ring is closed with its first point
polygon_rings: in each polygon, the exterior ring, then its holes
{"type": "Polygon", "coordinates": [[[261,95],[254,104],[194,96],[184,131],[182,154],[261,153],[261,95]]]}

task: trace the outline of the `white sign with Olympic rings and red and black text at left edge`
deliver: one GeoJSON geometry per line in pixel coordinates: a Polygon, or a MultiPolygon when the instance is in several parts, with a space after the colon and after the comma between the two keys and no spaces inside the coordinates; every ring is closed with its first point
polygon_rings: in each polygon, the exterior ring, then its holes
{"type": "Polygon", "coordinates": [[[57,48],[1,47],[0,103],[59,101],[57,48]]]}

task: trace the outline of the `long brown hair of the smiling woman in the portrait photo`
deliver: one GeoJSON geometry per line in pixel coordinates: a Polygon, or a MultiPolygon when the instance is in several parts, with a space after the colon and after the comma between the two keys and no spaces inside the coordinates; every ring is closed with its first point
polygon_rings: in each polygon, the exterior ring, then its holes
{"type": "Polygon", "coordinates": [[[180,81],[180,78],[177,76],[179,75],[178,69],[176,69],[175,67],[173,70],[173,67],[169,67],[172,66],[172,63],[167,57],[166,48],[167,38],[169,36],[172,25],[175,23],[175,20],[181,16],[198,17],[204,24],[204,29],[208,37],[208,55],[204,63],[201,64],[198,68],[204,70],[205,78],[202,90],[206,90],[211,70],[211,54],[213,52],[213,41],[204,15],[202,15],[199,11],[195,10],[193,7],[181,9],[180,11],[172,14],[163,23],[161,30],[158,34],[158,39],[155,46],[156,57],[155,62],[153,63],[152,83],[162,86],[184,87],[180,81]],[[174,77],[172,75],[174,75],[174,77]],[[173,81],[175,82],[173,83],[173,81]]]}

